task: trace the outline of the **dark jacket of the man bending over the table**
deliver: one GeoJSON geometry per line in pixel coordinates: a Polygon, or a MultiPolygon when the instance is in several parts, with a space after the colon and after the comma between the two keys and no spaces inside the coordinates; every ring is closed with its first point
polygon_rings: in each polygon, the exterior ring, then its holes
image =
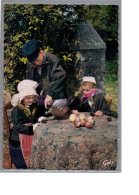
{"type": "Polygon", "coordinates": [[[37,92],[43,89],[43,95],[49,95],[53,100],[67,98],[66,94],[66,72],[59,64],[58,58],[50,53],[43,53],[41,74],[38,67],[28,65],[28,79],[39,83],[37,92]]]}

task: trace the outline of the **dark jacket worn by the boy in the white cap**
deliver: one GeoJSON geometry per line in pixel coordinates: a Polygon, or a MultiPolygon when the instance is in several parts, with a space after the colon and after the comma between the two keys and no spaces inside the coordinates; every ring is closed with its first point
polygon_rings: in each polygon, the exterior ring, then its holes
{"type": "Polygon", "coordinates": [[[70,105],[70,110],[78,110],[79,112],[93,112],[102,111],[104,115],[111,115],[110,108],[102,95],[102,93],[95,94],[84,102],[81,102],[82,94],[79,94],[70,105]]]}

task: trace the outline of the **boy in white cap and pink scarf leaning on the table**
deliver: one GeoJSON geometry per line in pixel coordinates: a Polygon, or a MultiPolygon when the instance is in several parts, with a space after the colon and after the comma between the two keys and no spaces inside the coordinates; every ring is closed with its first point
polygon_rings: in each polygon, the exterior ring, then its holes
{"type": "Polygon", "coordinates": [[[110,115],[110,108],[102,95],[102,91],[96,89],[96,80],[92,76],[83,77],[82,92],[70,105],[73,114],[79,112],[93,112],[95,116],[110,115]]]}

